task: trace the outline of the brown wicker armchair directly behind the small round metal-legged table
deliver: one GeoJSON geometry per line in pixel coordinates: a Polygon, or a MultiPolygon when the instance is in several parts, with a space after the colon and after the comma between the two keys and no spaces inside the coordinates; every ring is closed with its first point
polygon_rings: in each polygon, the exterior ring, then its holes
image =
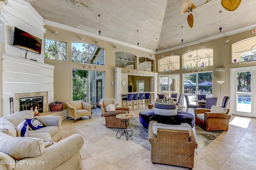
{"type": "MultiPolygon", "coordinates": [[[[104,107],[105,113],[103,114],[106,121],[106,127],[111,128],[119,128],[120,127],[120,119],[116,118],[118,114],[125,114],[126,111],[129,113],[129,107],[117,107],[115,111],[106,111],[106,107],[104,107]]],[[[128,122],[130,120],[128,119],[128,122]]],[[[126,127],[128,126],[128,123],[126,127]]]]}

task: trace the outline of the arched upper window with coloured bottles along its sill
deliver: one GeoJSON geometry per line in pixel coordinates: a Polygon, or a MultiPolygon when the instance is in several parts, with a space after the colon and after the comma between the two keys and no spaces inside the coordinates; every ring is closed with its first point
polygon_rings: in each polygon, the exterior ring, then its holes
{"type": "Polygon", "coordinates": [[[198,49],[182,55],[183,69],[213,65],[213,49],[198,49]]]}

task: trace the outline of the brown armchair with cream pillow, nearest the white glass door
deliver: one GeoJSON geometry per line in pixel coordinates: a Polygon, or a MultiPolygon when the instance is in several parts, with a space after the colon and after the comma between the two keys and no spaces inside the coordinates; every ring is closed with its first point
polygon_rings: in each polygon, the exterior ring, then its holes
{"type": "Polygon", "coordinates": [[[231,118],[228,112],[229,109],[217,106],[212,106],[211,109],[196,108],[196,125],[207,131],[226,131],[231,118]]]}

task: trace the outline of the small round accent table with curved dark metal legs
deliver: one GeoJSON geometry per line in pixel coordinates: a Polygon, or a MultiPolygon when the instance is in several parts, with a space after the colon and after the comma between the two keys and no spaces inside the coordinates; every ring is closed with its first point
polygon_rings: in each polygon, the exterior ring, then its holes
{"type": "Polygon", "coordinates": [[[128,133],[128,130],[127,130],[127,128],[129,127],[130,130],[131,130],[131,132],[132,132],[132,129],[131,129],[129,123],[128,123],[128,120],[131,119],[131,118],[133,118],[133,115],[130,115],[130,114],[129,114],[128,116],[126,116],[126,114],[118,114],[118,115],[116,115],[116,118],[117,118],[117,119],[120,119],[120,121],[121,121],[120,127],[118,128],[118,131],[116,132],[116,137],[119,139],[122,135],[125,134],[126,140],[128,140],[128,136],[132,136],[132,133],[129,134],[129,133],[128,133]],[[126,127],[126,124],[128,124],[127,127],[126,127]],[[122,128],[121,128],[121,127],[122,127],[122,128]],[[119,132],[120,129],[122,130],[122,133],[121,133],[120,136],[118,137],[117,134],[118,134],[118,132],[119,132]]]}

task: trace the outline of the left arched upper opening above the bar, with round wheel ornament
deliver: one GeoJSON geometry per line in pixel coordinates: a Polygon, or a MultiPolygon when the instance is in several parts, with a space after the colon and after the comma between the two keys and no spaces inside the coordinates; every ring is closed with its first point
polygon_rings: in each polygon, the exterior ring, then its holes
{"type": "Polygon", "coordinates": [[[135,69],[135,55],[127,52],[116,52],[116,67],[135,69]]]}

